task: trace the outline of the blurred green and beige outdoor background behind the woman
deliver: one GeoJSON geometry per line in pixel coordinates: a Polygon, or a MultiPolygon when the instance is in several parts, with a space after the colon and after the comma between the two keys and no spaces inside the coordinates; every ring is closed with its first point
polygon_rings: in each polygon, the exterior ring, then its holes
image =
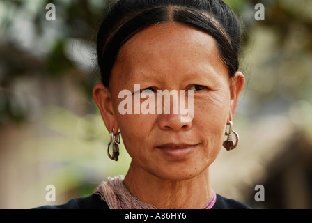
{"type": "MultiPolygon", "coordinates": [[[[123,146],[118,162],[107,157],[91,95],[96,31],[112,2],[0,0],[0,208],[64,203],[127,173],[123,146]]],[[[253,208],[312,208],[312,1],[261,1],[259,21],[257,1],[226,3],[244,22],[247,84],[233,121],[240,144],[221,150],[212,186],[253,208]]]]}

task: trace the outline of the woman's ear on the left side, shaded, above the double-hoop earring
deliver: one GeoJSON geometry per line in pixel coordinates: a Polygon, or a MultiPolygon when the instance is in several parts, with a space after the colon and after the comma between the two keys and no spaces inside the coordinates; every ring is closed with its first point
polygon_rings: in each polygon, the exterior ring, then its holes
{"type": "Polygon", "coordinates": [[[118,132],[118,123],[115,118],[111,92],[102,83],[95,84],[93,88],[93,99],[100,109],[102,119],[109,132],[114,129],[114,134],[118,132]]]}

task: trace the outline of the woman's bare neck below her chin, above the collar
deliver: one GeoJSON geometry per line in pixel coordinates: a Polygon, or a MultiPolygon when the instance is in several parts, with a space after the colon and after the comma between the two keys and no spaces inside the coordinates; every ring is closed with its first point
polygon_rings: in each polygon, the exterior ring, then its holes
{"type": "Polygon", "coordinates": [[[163,209],[203,208],[213,194],[208,168],[188,180],[165,180],[132,163],[124,184],[140,201],[163,209]]]}

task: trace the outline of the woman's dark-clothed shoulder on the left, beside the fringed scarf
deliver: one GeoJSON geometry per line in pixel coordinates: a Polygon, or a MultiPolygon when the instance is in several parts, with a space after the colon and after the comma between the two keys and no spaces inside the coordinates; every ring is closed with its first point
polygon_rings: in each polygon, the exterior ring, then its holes
{"type": "Polygon", "coordinates": [[[88,197],[70,199],[60,205],[39,206],[33,209],[109,209],[107,203],[101,199],[100,194],[92,194],[88,197]]]}

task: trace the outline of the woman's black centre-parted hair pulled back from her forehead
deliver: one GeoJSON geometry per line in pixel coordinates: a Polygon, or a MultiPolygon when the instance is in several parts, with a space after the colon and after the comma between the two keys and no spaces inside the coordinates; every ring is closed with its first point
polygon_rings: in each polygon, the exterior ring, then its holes
{"type": "Polygon", "coordinates": [[[120,48],[139,31],[159,22],[178,22],[208,33],[216,40],[230,77],[239,67],[240,22],[221,0],[119,0],[111,6],[98,31],[101,81],[109,86],[120,48]]]}

